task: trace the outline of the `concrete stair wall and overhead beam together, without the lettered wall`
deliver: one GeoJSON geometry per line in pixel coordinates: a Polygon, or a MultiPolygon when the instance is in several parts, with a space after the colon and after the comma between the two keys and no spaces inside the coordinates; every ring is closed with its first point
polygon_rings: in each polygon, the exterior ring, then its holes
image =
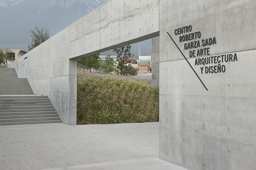
{"type": "Polygon", "coordinates": [[[159,0],[109,0],[8,67],[26,77],[35,94],[48,95],[62,121],[74,125],[76,59],[157,36],[159,0]]]}

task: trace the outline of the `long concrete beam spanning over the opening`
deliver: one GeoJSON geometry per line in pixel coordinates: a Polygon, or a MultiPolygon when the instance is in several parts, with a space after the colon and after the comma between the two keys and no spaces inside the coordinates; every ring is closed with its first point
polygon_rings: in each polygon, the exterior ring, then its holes
{"type": "Polygon", "coordinates": [[[158,37],[159,0],[109,0],[69,29],[72,59],[158,37]]]}

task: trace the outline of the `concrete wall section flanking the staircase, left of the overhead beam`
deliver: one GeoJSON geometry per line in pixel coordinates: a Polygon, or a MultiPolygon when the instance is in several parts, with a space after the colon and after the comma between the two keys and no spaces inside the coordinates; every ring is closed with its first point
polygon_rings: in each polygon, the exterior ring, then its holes
{"type": "Polygon", "coordinates": [[[66,28],[14,61],[19,78],[27,78],[33,92],[49,96],[63,123],[76,124],[76,60],[69,59],[66,28]],[[26,58],[27,59],[24,59],[26,58]]]}

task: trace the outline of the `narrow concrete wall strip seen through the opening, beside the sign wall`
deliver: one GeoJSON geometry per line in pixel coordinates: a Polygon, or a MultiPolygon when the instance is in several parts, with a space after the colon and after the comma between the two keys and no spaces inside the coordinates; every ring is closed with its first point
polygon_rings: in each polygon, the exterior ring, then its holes
{"type": "Polygon", "coordinates": [[[151,67],[152,79],[151,84],[159,87],[159,37],[152,38],[152,51],[151,51],[151,67]]]}

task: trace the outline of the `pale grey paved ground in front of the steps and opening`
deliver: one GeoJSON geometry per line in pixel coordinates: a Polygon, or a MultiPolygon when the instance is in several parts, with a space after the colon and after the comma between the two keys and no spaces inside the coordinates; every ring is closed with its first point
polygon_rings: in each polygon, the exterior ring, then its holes
{"type": "Polygon", "coordinates": [[[0,126],[0,170],[185,170],[158,148],[158,122],[0,126]]]}

